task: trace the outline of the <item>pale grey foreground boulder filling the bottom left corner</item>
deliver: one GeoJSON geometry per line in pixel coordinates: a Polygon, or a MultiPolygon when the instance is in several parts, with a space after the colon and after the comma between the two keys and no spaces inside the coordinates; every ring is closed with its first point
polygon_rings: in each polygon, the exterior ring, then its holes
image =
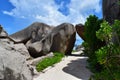
{"type": "Polygon", "coordinates": [[[0,47],[0,80],[32,80],[24,56],[0,47]]]}

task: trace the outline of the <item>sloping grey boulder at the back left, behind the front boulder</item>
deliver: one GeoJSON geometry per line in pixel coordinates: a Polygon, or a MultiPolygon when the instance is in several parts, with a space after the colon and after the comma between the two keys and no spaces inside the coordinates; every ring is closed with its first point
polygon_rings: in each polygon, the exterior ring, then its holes
{"type": "Polygon", "coordinates": [[[50,31],[51,27],[49,25],[35,22],[27,28],[10,35],[10,38],[13,39],[16,43],[25,44],[29,40],[32,42],[40,41],[50,31]]]}

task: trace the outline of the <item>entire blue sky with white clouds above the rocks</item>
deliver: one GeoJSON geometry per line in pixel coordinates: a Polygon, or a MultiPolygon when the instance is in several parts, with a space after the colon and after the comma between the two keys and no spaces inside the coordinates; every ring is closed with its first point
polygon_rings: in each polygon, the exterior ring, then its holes
{"type": "MultiPolygon", "coordinates": [[[[0,24],[12,34],[33,22],[83,23],[90,14],[102,18],[102,0],[0,0],[0,24]]],[[[77,36],[77,42],[82,40],[77,36]]]]}

